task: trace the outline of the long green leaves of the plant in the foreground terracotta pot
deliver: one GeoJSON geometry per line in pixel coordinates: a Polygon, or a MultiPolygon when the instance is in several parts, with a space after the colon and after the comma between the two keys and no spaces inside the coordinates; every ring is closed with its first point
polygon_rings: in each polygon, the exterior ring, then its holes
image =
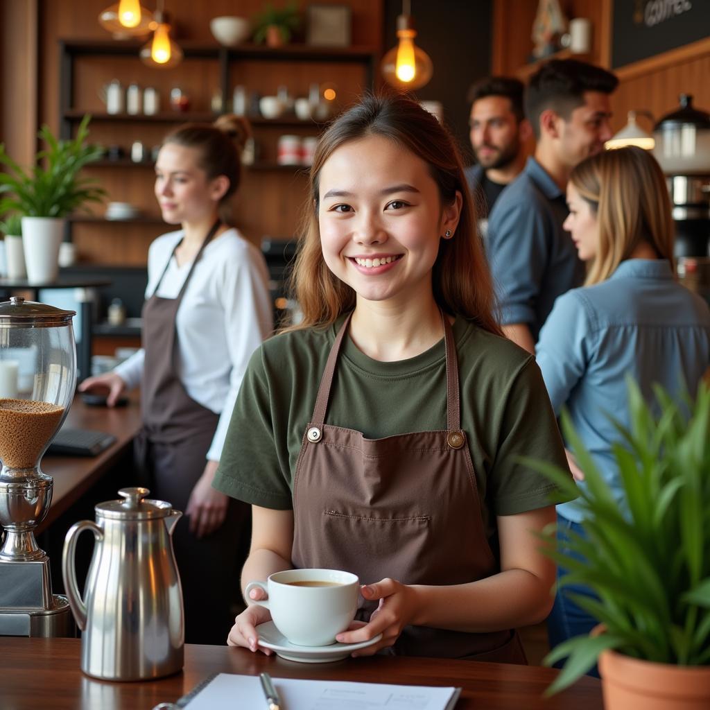
{"type": "Polygon", "coordinates": [[[710,665],[710,388],[701,385],[694,403],[681,404],[660,387],[654,392],[657,414],[629,380],[630,428],[611,419],[628,510],[619,508],[567,413],[562,429],[586,486],[577,488],[568,471],[526,459],[563,491],[579,491],[586,539],[570,533],[569,552],[583,559],[553,549],[545,554],[569,571],[562,586],[584,584],[599,597],[569,595],[604,627],[547,655],[547,665],[568,657],[548,694],[572,684],[606,649],[658,663],[710,665]]]}

